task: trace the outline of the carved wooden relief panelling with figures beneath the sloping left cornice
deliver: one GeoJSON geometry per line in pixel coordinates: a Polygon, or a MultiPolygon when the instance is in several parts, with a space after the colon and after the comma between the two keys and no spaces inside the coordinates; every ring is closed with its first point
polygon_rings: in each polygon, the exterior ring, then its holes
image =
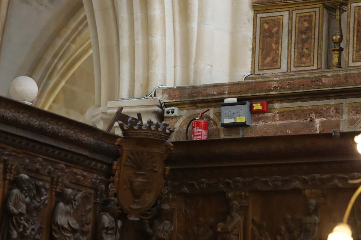
{"type": "Polygon", "coordinates": [[[0,185],[4,206],[0,213],[1,240],[14,232],[17,232],[14,239],[49,239],[54,236],[56,212],[61,213],[58,219],[62,219],[62,225],[59,223],[61,231],[58,232],[63,234],[55,239],[67,234],[64,229],[68,221],[64,223],[64,216],[73,224],[68,233],[79,240],[93,239],[93,207],[95,202],[102,202],[106,197],[108,180],[104,176],[29,153],[18,153],[16,149],[1,149],[0,153],[1,162],[4,162],[0,163],[4,166],[0,176],[5,179],[0,185]],[[69,194],[62,196],[65,189],[69,189],[69,194]],[[10,224],[12,219],[18,219],[13,221],[17,222],[15,225],[10,224]]]}

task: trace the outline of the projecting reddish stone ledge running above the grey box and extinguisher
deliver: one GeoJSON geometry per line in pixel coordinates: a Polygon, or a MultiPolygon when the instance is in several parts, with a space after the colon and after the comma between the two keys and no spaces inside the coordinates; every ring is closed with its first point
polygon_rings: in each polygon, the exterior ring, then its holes
{"type": "Polygon", "coordinates": [[[252,76],[250,80],[162,89],[166,107],[219,105],[225,98],[269,103],[360,97],[360,69],[252,76]],[[271,76],[270,76],[271,75],[271,76]]]}

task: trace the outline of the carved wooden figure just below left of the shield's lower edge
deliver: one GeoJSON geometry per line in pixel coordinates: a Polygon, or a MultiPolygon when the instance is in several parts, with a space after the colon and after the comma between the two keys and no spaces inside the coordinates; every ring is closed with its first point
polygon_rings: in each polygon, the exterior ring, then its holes
{"type": "Polygon", "coordinates": [[[106,198],[103,203],[104,212],[100,213],[97,228],[97,240],[119,240],[122,222],[117,220],[117,198],[106,198]]]}

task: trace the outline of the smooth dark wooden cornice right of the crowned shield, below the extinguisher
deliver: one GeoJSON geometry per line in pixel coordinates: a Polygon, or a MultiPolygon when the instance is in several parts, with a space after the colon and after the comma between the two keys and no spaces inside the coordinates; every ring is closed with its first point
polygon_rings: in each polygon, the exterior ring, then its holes
{"type": "MultiPolygon", "coordinates": [[[[354,137],[359,132],[240,137],[202,141],[175,141],[165,164],[174,171],[211,167],[262,167],[273,164],[329,164],[361,161],[354,137]],[[190,149],[192,149],[190,151],[190,149]]],[[[225,169],[225,171],[228,171],[225,169]]]]}

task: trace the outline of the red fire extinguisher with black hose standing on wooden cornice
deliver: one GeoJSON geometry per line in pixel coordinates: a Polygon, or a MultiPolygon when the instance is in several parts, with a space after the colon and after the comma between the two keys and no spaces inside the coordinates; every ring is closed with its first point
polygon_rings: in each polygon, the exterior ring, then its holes
{"type": "Polygon", "coordinates": [[[192,140],[208,139],[208,122],[200,118],[209,118],[203,116],[204,113],[208,112],[210,108],[201,112],[196,118],[193,118],[187,125],[186,128],[186,139],[188,140],[188,128],[192,123],[192,140]]]}

